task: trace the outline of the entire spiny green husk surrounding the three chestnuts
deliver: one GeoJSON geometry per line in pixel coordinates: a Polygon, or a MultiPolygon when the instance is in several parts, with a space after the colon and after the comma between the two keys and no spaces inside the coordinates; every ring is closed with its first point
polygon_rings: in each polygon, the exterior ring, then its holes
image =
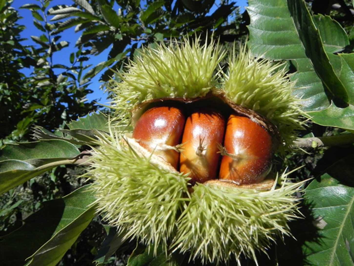
{"type": "Polygon", "coordinates": [[[189,194],[188,176],[152,164],[123,144],[122,136],[131,132],[130,112],[141,102],[215,92],[278,126],[283,151],[301,128],[299,101],[279,64],[254,59],[243,47],[236,59],[231,55],[229,71],[222,75],[218,63],[224,52],[217,44],[184,41],[143,49],[120,74],[122,82],[114,84],[112,108],[117,112],[87,174],[94,180],[98,212],[126,238],[153,246],[155,253],[162,246],[165,252],[188,251],[191,259],[216,264],[241,254],[256,260],[256,250],[265,252],[278,235],[290,234],[287,222],[298,213],[293,194],[301,183],[282,180],[280,188],[268,192],[197,184],[189,194]]]}

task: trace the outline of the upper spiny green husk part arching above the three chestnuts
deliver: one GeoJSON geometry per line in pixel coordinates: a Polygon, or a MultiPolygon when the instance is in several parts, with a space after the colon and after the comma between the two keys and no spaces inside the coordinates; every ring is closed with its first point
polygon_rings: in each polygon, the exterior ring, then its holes
{"type": "Polygon", "coordinates": [[[228,59],[228,71],[222,73],[219,62],[225,52],[215,41],[200,44],[200,39],[184,43],[165,43],[143,48],[136,61],[120,74],[122,82],[112,81],[115,109],[120,121],[130,122],[130,112],[143,101],[181,97],[193,99],[209,92],[223,93],[234,104],[252,109],[278,127],[279,151],[284,153],[302,129],[301,101],[292,94],[295,85],[286,76],[282,63],[259,60],[246,45],[235,48],[228,59]]]}

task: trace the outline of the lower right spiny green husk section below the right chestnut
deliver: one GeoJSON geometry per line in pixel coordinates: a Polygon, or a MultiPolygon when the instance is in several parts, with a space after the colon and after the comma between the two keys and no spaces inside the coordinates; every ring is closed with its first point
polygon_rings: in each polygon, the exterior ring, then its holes
{"type": "Polygon", "coordinates": [[[218,184],[198,184],[191,201],[179,217],[175,249],[189,251],[190,259],[227,262],[244,254],[256,263],[255,251],[264,253],[278,236],[290,235],[287,222],[298,218],[302,183],[287,182],[282,174],[280,188],[259,192],[218,184]]]}

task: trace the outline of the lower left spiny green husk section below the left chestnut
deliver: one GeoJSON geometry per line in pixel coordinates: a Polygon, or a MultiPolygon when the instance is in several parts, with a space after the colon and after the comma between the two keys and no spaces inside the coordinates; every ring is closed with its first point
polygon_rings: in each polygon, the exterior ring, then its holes
{"type": "Polygon", "coordinates": [[[87,176],[95,180],[97,211],[125,238],[158,245],[167,251],[167,239],[176,231],[178,213],[189,200],[186,178],[151,164],[122,144],[118,132],[100,136],[87,176]]]}

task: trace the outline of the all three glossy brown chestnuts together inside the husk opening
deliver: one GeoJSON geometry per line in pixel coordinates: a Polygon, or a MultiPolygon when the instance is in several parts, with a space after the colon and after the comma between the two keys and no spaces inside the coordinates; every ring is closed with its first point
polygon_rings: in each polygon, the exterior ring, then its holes
{"type": "Polygon", "coordinates": [[[192,184],[215,179],[241,186],[262,183],[279,145],[272,123],[222,95],[152,100],[132,116],[133,139],[189,173],[192,184]]]}

